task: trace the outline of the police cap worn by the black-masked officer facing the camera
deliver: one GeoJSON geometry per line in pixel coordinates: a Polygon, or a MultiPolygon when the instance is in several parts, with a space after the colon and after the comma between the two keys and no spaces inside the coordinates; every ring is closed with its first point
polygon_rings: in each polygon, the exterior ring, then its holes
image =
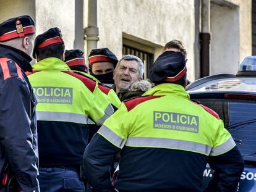
{"type": "Polygon", "coordinates": [[[88,56],[89,66],[95,62],[111,62],[116,67],[117,57],[108,48],[92,49],[88,56]]]}

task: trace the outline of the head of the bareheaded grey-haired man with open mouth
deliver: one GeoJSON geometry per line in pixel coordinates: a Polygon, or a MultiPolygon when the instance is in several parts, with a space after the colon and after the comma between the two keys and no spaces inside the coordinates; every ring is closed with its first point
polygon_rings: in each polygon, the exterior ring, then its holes
{"type": "Polygon", "coordinates": [[[119,60],[114,69],[114,90],[117,95],[129,91],[130,86],[142,80],[144,64],[134,55],[126,55],[119,60]]]}

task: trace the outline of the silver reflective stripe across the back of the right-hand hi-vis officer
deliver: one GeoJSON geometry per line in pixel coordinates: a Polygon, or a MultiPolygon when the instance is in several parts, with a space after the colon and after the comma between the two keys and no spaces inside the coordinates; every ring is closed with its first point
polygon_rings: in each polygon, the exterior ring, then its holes
{"type": "Polygon", "coordinates": [[[149,138],[149,137],[129,137],[126,141],[127,146],[141,146],[153,148],[172,148],[186,151],[199,152],[209,155],[211,146],[192,141],[174,140],[169,138],[149,138]]]}

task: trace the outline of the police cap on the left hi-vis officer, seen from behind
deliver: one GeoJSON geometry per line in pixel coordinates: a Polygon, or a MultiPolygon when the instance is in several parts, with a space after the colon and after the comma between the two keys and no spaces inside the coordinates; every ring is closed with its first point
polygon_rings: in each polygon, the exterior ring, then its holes
{"type": "Polygon", "coordinates": [[[49,30],[45,31],[45,33],[36,36],[33,57],[35,58],[35,53],[38,49],[53,46],[55,44],[64,44],[61,30],[58,27],[50,28],[49,30]]]}

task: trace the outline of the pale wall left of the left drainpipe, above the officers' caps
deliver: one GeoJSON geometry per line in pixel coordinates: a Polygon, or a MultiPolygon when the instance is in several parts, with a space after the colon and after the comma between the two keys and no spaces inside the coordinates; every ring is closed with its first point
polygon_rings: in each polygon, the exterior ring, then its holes
{"type": "Polygon", "coordinates": [[[32,17],[36,23],[36,35],[51,27],[61,28],[66,48],[74,47],[75,1],[0,0],[0,22],[19,15],[32,17]]]}

